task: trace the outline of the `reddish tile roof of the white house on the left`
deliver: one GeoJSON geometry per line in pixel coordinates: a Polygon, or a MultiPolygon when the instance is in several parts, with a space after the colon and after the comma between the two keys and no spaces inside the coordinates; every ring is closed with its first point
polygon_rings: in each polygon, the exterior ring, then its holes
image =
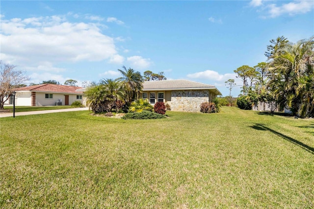
{"type": "Polygon", "coordinates": [[[40,92],[55,92],[55,93],[69,93],[69,94],[82,94],[83,92],[76,91],[82,87],[78,86],[64,86],[64,85],[57,85],[51,83],[45,83],[40,85],[34,86],[26,86],[22,88],[16,88],[15,91],[40,91],[40,92]]]}

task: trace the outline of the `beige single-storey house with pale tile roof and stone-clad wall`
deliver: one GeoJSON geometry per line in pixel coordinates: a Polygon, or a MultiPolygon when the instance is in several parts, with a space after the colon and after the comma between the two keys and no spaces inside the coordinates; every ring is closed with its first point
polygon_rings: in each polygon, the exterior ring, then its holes
{"type": "Polygon", "coordinates": [[[141,97],[150,104],[164,102],[171,110],[199,112],[203,102],[211,102],[220,91],[213,85],[190,80],[157,80],[145,81],[141,97]]]}

